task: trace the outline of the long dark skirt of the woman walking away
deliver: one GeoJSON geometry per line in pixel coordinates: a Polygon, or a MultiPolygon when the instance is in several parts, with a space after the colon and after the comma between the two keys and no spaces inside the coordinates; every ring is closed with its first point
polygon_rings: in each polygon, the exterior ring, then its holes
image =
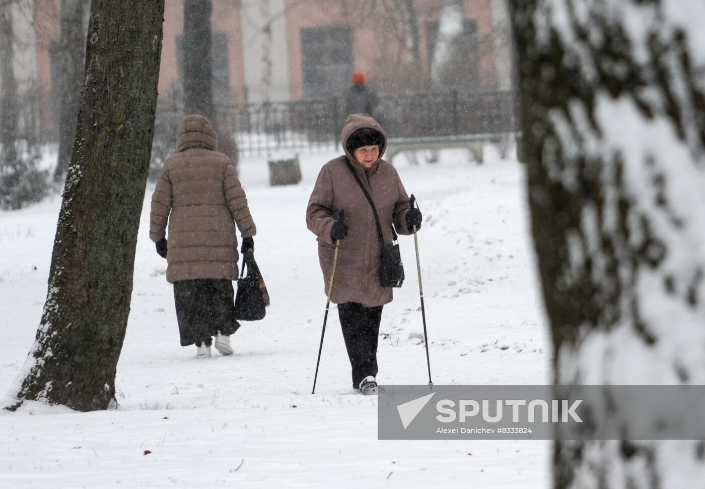
{"type": "Polygon", "coordinates": [[[233,334],[240,323],[233,315],[233,282],[228,279],[177,280],[174,303],[181,346],[211,343],[218,334],[233,334]]]}

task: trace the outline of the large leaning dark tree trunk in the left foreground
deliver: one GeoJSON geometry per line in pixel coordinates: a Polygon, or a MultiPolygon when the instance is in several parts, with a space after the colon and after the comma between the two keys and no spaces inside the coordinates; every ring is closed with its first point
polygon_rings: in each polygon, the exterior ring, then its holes
{"type": "Polygon", "coordinates": [[[114,402],[157,106],[164,0],[92,0],[71,167],[25,399],[79,411],[114,402]]]}

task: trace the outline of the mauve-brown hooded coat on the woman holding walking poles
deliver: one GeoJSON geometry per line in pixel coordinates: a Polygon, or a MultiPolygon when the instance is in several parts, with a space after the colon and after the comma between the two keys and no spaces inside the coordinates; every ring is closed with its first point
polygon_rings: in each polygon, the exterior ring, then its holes
{"type": "Polygon", "coordinates": [[[392,224],[398,234],[411,234],[405,216],[410,200],[391,163],[381,159],[386,147],[386,133],[372,117],[363,114],[348,116],[341,135],[345,155],[332,159],[319,173],[306,210],[306,224],[317,236],[318,255],[323,272],[324,291],[328,294],[333,270],[335,243],[331,227],[338,212],[344,210],[345,224],[350,228],[341,241],[338,265],[333,284],[333,303],[355,302],[365,307],[382,306],[392,300],[392,289],[379,284],[381,243],[377,234],[372,207],[362,189],[350,173],[345,159],[353,165],[360,180],[372,196],[379,214],[385,243],[392,241],[392,224]],[[346,148],[348,138],[360,128],[379,131],[384,143],[379,148],[379,159],[365,169],[355,161],[346,148]]]}

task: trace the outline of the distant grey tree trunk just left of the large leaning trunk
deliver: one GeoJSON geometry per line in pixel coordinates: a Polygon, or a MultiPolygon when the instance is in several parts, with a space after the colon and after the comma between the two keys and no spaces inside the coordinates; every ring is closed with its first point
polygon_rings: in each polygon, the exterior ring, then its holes
{"type": "Polygon", "coordinates": [[[59,78],[59,157],[54,180],[66,175],[76,132],[76,118],[85,68],[83,19],[87,0],[61,0],[61,78],[59,78]]]}

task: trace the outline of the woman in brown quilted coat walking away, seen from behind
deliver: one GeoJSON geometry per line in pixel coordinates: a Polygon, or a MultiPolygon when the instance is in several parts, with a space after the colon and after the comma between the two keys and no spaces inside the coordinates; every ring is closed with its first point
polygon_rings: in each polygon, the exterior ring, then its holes
{"type": "Polygon", "coordinates": [[[218,136],[204,116],[185,116],[176,154],[164,162],[152,195],[149,238],[166,258],[174,286],[181,346],[195,344],[197,358],[211,356],[212,337],[223,355],[240,325],[233,316],[233,283],[240,251],[254,248],[257,232],[245,191],[230,159],[218,152],[218,136]],[[168,238],[166,224],[168,222],[168,238]]]}

